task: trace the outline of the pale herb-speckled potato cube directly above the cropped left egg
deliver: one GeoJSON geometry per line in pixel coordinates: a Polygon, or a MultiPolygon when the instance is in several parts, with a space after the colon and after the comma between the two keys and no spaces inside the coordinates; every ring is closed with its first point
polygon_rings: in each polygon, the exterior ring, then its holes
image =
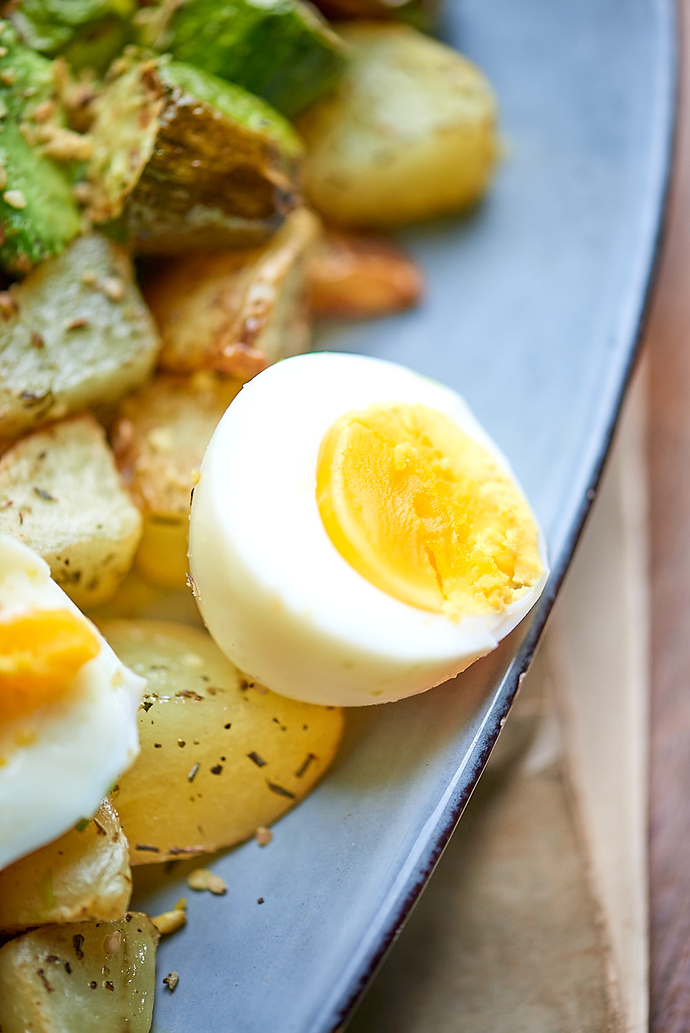
{"type": "Polygon", "coordinates": [[[93,416],[36,431],[4,453],[0,532],[42,556],[77,606],[115,593],[132,565],[142,516],[93,416]]]}

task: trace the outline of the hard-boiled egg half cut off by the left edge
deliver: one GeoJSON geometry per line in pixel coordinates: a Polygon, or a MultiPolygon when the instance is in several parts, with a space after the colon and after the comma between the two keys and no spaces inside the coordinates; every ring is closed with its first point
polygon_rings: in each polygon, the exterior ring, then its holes
{"type": "Polygon", "coordinates": [[[94,814],[138,753],[145,684],[0,535],[0,868],[94,814]]]}

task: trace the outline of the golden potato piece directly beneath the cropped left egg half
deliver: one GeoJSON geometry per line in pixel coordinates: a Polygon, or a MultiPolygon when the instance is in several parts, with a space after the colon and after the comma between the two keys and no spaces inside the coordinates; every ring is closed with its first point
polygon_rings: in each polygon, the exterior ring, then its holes
{"type": "Polygon", "coordinates": [[[90,821],[0,872],[0,933],[122,918],[131,888],[129,844],[104,800],[90,821]]]}

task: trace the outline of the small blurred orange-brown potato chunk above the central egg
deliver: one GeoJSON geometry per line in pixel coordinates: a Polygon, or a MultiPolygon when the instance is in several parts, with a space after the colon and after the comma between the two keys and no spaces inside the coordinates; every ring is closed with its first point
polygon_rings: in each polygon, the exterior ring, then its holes
{"type": "Polygon", "coordinates": [[[418,267],[393,241],[331,230],[307,271],[309,304],[317,319],[367,319],[417,305],[424,292],[418,267]]]}

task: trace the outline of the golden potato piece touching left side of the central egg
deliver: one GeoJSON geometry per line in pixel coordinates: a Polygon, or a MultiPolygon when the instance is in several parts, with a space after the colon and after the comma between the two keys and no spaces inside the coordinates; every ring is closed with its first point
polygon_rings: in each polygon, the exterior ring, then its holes
{"type": "Polygon", "coordinates": [[[154,585],[185,585],[195,471],[240,387],[240,381],[210,373],[163,374],[120,409],[113,445],[123,480],[144,514],[136,566],[154,585]]]}

